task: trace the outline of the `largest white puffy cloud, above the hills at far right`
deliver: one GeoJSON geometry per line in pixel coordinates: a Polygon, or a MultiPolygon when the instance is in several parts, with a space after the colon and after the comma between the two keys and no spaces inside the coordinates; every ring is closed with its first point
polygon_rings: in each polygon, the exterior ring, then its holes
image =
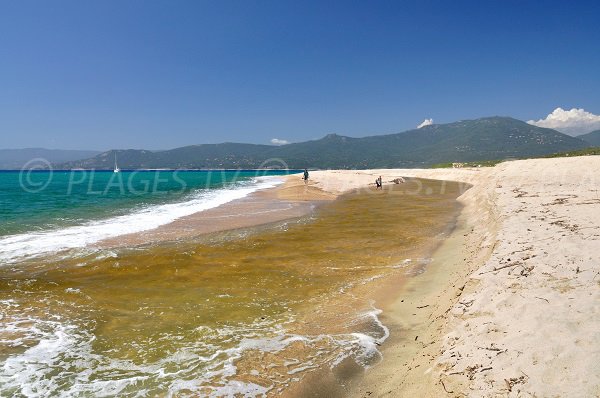
{"type": "Polygon", "coordinates": [[[527,123],[538,127],[547,127],[569,135],[580,135],[600,129],[600,115],[573,108],[565,111],[556,108],[545,119],[529,120],[527,123]]]}

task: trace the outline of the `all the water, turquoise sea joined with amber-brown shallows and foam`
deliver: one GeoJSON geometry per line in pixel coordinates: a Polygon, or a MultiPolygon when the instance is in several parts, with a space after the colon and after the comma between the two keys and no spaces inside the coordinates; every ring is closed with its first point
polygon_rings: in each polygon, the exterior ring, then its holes
{"type": "Polygon", "coordinates": [[[268,225],[101,244],[291,172],[0,172],[0,395],[279,396],[311,372],[375,366],[390,331],[373,286],[433,261],[458,184],[408,180],[268,225]]]}

